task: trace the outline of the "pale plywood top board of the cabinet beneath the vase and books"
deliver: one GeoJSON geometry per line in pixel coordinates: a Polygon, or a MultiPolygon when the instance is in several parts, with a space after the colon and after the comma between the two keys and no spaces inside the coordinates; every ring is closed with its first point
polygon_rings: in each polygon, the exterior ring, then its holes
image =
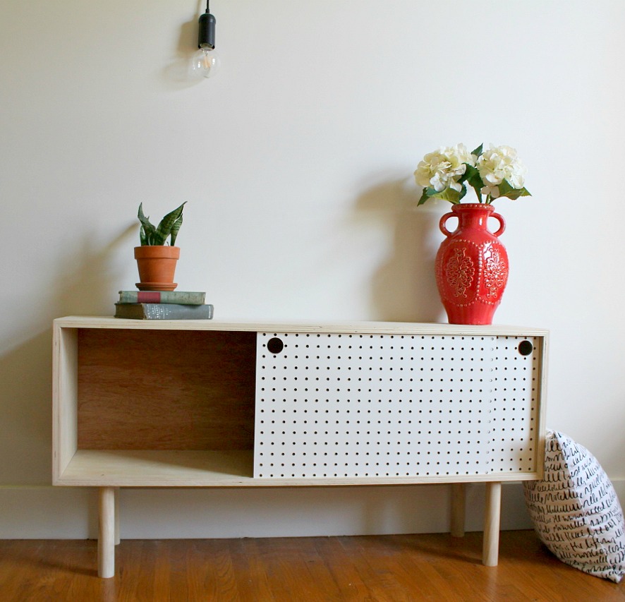
{"type": "Polygon", "coordinates": [[[222,321],[222,320],[125,320],[109,316],[69,315],[56,318],[55,327],[61,328],[115,328],[138,330],[233,330],[250,332],[315,332],[348,334],[388,335],[510,335],[546,336],[544,328],[463,324],[416,323],[416,322],[368,322],[368,321],[222,321]]]}

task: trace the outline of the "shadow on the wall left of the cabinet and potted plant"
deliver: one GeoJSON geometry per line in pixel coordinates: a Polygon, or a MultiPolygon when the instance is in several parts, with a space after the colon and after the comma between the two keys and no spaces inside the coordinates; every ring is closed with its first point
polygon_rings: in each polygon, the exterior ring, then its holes
{"type": "MultiPolygon", "coordinates": [[[[63,315],[112,315],[117,299],[120,271],[114,256],[128,236],[137,234],[133,226],[107,246],[95,248],[85,239],[83,248],[59,258],[59,269],[42,283],[42,303],[36,315],[19,315],[24,320],[19,341],[4,341],[0,356],[3,383],[1,405],[4,428],[0,432],[0,483],[40,485],[51,478],[51,363],[54,318],[63,315]]],[[[128,262],[134,262],[132,250],[128,262]]],[[[30,307],[30,306],[29,306],[30,307]]]]}

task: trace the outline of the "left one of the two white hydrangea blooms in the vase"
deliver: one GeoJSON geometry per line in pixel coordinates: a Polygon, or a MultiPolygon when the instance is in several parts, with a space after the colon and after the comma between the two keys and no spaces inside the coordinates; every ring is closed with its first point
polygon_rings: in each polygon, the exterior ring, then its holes
{"type": "Polygon", "coordinates": [[[446,188],[460,192],[462,186],[458,180],[466,171],[465,163],[475,166],[475,155],[471,155],[465,145],[441,147],[423,157],[415,170],[415,181],[419,186],[431,186],[437,192],[446,188]]]}

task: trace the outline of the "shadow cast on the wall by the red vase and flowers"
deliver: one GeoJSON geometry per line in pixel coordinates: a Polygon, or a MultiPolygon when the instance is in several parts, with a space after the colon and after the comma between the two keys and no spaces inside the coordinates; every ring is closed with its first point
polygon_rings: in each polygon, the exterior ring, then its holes
{"type": "Polygon", "coordinates": [[[392,253],[372,277],[376,319],[447,322],[439,298],[434,260],[442,242],[438,228],[448,205],[417,206],[418,193],[405,179],[370,188],[356,203],[359,212],[383,214],[392,228],[392,253]]]}

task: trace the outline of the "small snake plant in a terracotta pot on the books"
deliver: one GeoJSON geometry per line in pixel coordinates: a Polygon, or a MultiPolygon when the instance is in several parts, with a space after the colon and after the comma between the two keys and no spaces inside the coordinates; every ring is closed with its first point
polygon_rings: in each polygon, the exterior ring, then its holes
{"type": "Polygon", "coordinates": [[[140,279],[136,286],[140,291],[173,291],[178,286],[174,282],[174,272],[180,257],[180,248],[175,243],[182,225],[185,204],[186,202],[169,212],[154,227],[150,218],[143,215],[143,203],[140,203],[138,218],[141,224],[141,246],[135,247],[140,279]],[[167,239],[169,245],[166,244],[167,239]]]}

